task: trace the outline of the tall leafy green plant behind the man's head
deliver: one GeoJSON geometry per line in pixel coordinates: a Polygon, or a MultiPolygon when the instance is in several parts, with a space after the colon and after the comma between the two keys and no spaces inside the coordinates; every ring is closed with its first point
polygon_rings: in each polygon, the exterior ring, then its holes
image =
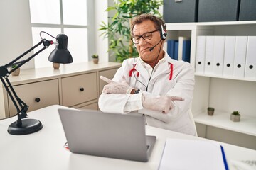
{"type": "Polygon", "coordinates": [[[113,6],[109,6],[106,11],[115,11],[111,17],[111,23],[100,25],[100,29],[104,38],[109,40],[110,56],[114,56],[117,62],[122,62],[129,57],[137,56],[130,34],[130,23],[132,18],[142,13],[152,13],[161,16],[159,7],[164,4],[163,0],[117,0],[113,6]]]}

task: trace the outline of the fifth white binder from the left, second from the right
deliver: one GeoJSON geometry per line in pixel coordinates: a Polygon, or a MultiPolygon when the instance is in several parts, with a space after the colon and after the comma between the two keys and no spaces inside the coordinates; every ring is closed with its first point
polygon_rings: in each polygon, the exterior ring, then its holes
{"type": "Polygon", "coordinates": [[[237,36],[235,38],[234,77],[245,77],[246,48],[247,36],[237,36]]]}

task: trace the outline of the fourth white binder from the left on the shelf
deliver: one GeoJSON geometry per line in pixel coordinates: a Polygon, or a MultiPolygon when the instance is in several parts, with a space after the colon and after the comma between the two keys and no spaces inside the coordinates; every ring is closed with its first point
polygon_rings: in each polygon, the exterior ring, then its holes
{"type": "Polygon", "coordinates": [[[235,60],[235,36],[225,37],[223,75],[233,76],[235,60]]]}

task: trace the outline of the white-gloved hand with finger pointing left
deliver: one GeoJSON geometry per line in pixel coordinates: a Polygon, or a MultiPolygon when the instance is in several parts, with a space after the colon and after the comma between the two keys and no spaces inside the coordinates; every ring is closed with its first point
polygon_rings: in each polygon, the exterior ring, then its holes
{"type": "Polygon", "coordinates": [[[108,83],[103,87],[102,93],[104,94],[131,94],[133,89],[127,82],[117,83],[103,76],[100,76],[100,79],[108,83]]]}

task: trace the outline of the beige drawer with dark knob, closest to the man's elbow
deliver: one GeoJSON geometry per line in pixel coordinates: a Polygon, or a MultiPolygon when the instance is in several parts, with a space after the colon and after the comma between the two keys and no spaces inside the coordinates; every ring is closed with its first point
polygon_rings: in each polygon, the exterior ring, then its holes
{"type": "Polygon", "coordinates": [[[61,79],[63,106],[75,106],[97,99],[97,74],[81,74],[61,79]]]}

